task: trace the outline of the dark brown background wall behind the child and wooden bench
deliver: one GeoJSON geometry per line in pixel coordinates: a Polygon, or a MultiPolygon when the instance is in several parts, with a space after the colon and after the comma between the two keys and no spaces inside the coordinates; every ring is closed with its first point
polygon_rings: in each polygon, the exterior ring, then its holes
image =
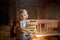
{"type": "Polygon", "coordinates": [[[28,10],[29,19],[60,20],[60,0],[0,0],[0,25],[8,25],[21,8],[28,10]]]}

